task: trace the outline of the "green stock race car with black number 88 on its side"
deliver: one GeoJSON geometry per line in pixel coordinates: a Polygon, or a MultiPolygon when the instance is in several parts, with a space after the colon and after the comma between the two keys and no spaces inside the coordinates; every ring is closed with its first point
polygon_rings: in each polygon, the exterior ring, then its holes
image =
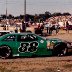
{"type": "Polygon", "coordinates": [[[33,33],[11,33],[0,37],[0,58],[65,55],[67,50],[67,43],[62,40],[45,39],[33,33]]]}

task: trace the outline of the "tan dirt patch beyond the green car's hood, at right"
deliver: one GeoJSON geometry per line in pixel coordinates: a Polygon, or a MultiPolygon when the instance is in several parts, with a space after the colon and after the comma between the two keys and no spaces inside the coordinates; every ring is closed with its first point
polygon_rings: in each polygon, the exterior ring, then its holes
{"type": "Polygon", "coordinates": [[[52,36],[47,36],[47,38],[59,38],[62,40],[67,40],[72,42],[72,30],[67,33],[65,30],[60,30],[58,34],[53,34],[52,36]]]}

